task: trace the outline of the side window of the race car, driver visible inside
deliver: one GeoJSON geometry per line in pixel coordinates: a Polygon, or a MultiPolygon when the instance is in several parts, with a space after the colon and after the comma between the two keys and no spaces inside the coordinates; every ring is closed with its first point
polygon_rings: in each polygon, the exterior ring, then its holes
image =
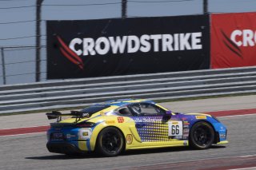
{"type": "Polygon", "coordinates": [[[149,103],[136,103],[130,105],[130,110],[134,116],[150,116],[150,115],[163,115],[165,111],[156,105],[149,103]]]}

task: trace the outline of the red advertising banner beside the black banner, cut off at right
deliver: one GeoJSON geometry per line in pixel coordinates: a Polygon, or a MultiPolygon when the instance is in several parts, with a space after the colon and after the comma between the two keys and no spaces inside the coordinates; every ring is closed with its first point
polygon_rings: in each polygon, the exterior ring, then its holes
{"type": "Polygon", "coordinates": [[[212,69],[256,65],[256,13],[212,14],[212,69]]]}

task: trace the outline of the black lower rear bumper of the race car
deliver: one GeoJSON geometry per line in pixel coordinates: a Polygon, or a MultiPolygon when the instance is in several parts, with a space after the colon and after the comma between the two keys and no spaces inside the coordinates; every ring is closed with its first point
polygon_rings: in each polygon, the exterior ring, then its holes
{"type": "Polygon", "coordinates": [[[46,144],[49,152],[54,153],[64,153],[64,154],[72,154],[72,153],[84,153],[77,146],[70,143],[50,143],[46,144]]]}

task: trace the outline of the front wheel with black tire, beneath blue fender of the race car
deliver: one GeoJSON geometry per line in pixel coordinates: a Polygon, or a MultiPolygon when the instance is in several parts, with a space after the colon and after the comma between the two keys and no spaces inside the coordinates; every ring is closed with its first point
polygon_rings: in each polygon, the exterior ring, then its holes
{"type": "Polygon", "coordinates": [[[190,147],[209,148],[214,143],[214,128],[205,121],[199,121],[190,129],[190,147]]]}

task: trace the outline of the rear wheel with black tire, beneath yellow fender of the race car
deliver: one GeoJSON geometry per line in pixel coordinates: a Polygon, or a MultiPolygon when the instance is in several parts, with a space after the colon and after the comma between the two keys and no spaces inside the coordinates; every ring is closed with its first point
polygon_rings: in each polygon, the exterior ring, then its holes
{"type": "Polygon", "coordinates": [[[114,127],[104,128],[98,134],[96,152],[100,156],[118,156],[122,152],[124,144],[122,132],[114,127]]]}

